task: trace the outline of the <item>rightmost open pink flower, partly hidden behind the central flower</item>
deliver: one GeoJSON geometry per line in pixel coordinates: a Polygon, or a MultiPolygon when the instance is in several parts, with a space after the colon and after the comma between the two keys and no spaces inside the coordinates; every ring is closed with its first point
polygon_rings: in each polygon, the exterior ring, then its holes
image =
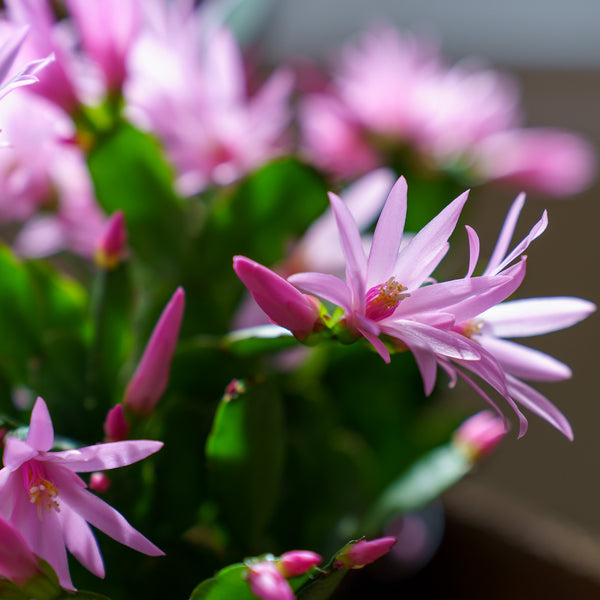
{"type": "MultiPolygon", "coordinates": [[[[523,194],[513,202],[484,275],[502,275],[515,269],[516,267],[508,267],[508,265],[519,258],[529,244],[545,230],[548,221],[544,212],[529,234],[512,251],[508,252],[524,202],[523,194]]],[[[470,230],[469,237],[471,260],[467,277],[473,272],[479,256],[479,241],[475,232],[470,230]]],[[[521,264],[524,264],[523,259],[521,259],[521,264]]],[[[450,374],[452,381],[457,376],[462,377],[500,412],[487,394],[461,368],[465,368],[483,379],[500,393],[517,413],[520,422],[519,436],[526,432],[527,420],[515,403],[545,419],[567,438],[572,439],[571,426],[558,408],[540,392],[521,381],[521,378],[534,381],[566,379],[571,376],[570,369],[543,352],[503,338],[539,335],[570,327],[586,318],[596,307],[586,300],[568,297],[529,298],[501,304],[491,301],[486,306],[487,302],[488,300],[483,297],[477,303],[466,300],[449,308],[449,312],[454,314],[456,319],[454,331],[480,348],[481,358],[479,361],[467,362],[460,359],[449,361],[441,359],[439,356],[427,356],[423,357],[423,364],[437,362],[450,374]]],[[[422,369],[431,373],[432,382],[434,382],[435,368],[423,366],[422,369]]]]}

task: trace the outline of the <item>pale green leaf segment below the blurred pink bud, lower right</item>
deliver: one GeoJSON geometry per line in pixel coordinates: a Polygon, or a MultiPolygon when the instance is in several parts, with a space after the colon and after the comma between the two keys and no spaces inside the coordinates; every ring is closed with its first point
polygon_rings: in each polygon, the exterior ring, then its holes
{"type": "Polygon", "coordinates": [[[422,508],[460,481],[472,467],[467,455],[451,442],[431,450],[383,492],[360,530],[366,535],[377,534],[390,517],[422,508]]]}

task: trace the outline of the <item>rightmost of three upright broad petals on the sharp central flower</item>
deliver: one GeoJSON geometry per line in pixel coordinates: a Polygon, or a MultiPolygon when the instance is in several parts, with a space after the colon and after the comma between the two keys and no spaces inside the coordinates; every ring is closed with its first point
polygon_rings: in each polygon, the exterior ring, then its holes
{"type": "Polygon", "coordinates": [[[454,231],[468,195],[465,192],[453,200],[400,252],[394,270],[396,280],[402,285],[408,289],[419,287],[431,275],[438,264],[432,264],[431,259],[440,255],[441,248],[454,231]]]}

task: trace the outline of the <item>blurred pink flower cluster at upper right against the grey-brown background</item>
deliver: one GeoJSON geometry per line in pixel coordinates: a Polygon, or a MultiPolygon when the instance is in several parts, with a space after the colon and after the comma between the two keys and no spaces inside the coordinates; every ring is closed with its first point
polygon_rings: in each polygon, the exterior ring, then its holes
{"type": "Polygon", "coordinates": [[[551,196],[585,188],[591,147],[566,131],[521,127],[515,83],[475,61],[447,66],[437,48],[376,29],[344,48],[330,84],[302,101],[305,152],[354,177],[404,156],[467,181],[504,180],[551,196]]]}

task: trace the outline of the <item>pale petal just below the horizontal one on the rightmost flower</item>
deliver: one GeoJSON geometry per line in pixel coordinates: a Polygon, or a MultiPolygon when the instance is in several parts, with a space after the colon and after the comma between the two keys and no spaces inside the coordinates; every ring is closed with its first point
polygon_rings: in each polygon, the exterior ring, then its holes
{"type": "Polygon", "coordinates": [[[539,350],[487,335],[479,336],[477,341],[494,355],[507,373],[516,377],[534,381],[562,381],[572,375],[567,365],[539,350]]]}

